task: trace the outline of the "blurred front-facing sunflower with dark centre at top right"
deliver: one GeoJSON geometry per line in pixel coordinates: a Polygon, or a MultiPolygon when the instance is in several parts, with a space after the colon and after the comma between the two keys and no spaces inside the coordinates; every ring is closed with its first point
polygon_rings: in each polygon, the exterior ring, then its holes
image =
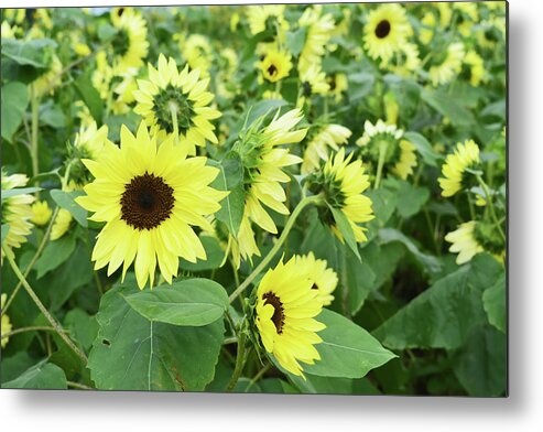
{"type": "Polygon", "coordinates": [[[368,14],[363,46],[371,58],[380,58],[387,65],[411,32],[405,10],[400,4],[382,4],[368,14]]]}

